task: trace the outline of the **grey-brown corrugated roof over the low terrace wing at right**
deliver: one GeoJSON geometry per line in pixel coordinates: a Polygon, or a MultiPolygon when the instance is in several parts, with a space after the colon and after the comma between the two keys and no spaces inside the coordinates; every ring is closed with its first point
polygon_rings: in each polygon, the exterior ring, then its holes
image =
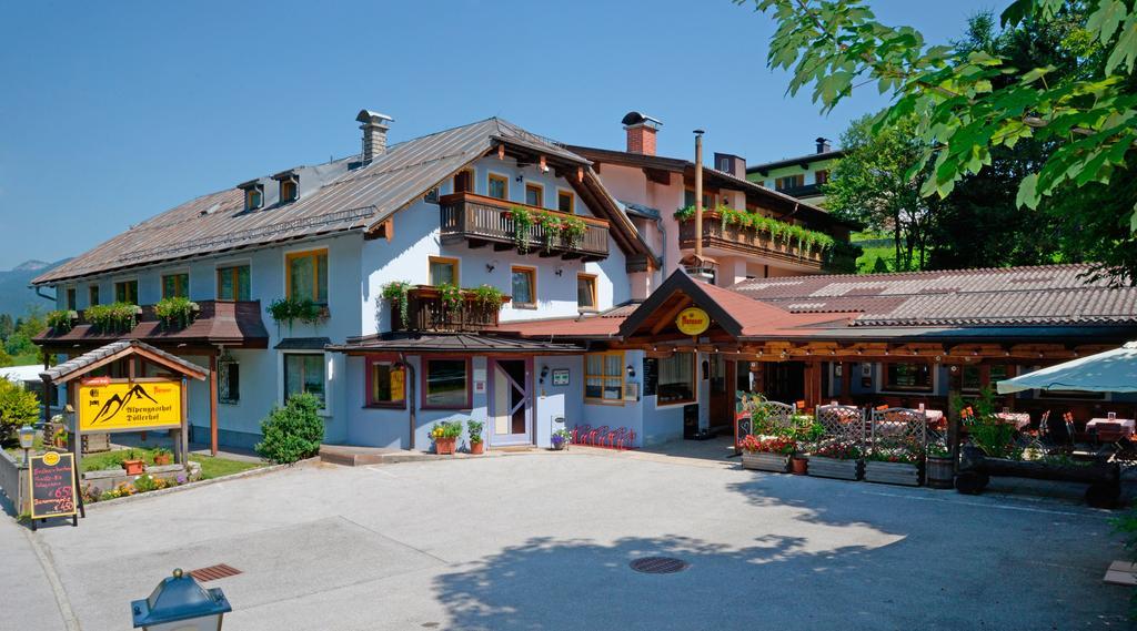
{"type": "Polygon", "coordinates": [[[1089,266],[750,279],[731,289],[795,312],[858,312],[854,327],[1137,322],[1137,287],[1089,266]]]}

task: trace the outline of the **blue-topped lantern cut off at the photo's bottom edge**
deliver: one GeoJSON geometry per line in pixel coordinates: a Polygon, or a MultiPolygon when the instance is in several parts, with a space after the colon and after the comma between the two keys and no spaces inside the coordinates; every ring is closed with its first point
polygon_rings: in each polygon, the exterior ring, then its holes
{"type": "Polygon", "coordinates": [[[231,611],[221,588],[204,589],[180,569],[149,598],[131,603],[134,629],[143,631],[221,631],[222,617],[231,611]]]}

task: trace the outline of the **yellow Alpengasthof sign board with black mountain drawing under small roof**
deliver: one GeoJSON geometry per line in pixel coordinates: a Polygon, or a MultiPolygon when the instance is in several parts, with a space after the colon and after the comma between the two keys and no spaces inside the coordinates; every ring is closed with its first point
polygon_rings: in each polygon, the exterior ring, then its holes
{"type": "Polygon", "coordinates": [[[81,431],[182,427],[180,381],[80,385],[81,431]]]}

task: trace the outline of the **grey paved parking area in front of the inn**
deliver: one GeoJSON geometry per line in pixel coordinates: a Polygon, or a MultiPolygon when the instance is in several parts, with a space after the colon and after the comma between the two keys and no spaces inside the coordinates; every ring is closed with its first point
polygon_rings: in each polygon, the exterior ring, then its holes
{"type": "Polygon", "coordinates": [[[1101,581],[1122,555],[1109,516],[575,452],[304,465],[34,537],[94,631],[130,629],[173,567],[217,563],[243,572],[208,583],[236,631],[1126,628],[1129,591],[1101,581]],[[690,565],[629,569],[641,556],[690,565]]]}

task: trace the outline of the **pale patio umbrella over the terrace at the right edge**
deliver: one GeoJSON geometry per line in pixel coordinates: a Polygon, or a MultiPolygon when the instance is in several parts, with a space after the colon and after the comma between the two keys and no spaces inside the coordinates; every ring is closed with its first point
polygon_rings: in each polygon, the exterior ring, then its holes
{"type": "Polygon", "coordinates": [[[1137,342],[998,382],[998,394],[1022,390],[1137,393],[1137,342]]]}

